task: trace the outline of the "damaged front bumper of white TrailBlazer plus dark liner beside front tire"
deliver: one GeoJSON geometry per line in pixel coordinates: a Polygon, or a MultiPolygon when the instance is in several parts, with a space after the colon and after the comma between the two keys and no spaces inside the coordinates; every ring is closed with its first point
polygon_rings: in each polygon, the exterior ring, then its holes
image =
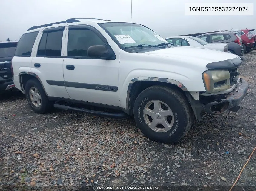
{"type": "Polygon", "coordinates": [[[191,107],[194,111],[197,121],[200,121],[203,113],[209,113],[213,115],[221,115],[228,110],[237,112],[240,109],[239,104],[247,95],[248,83],[243,78],[240,78],[239,82],[236,84],[235,88],[224,94],[218,94],[218,99],[216,100],[216,95],[205,95],[199,96],[199,100],[194,100],[193,97],[186,93],[191,107]],[[205,100],[207,102],[205,103],[205,100]]]}

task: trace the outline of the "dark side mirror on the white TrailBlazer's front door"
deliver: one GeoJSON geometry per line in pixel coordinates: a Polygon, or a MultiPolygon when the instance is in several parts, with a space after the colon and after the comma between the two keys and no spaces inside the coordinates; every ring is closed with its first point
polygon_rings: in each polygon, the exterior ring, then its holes
{"type": "Polygon", "coordinates": [[[110,58],[112,56],[111,52],[103,45],[90,46],[87,54],[93,58],[110,58]]]}

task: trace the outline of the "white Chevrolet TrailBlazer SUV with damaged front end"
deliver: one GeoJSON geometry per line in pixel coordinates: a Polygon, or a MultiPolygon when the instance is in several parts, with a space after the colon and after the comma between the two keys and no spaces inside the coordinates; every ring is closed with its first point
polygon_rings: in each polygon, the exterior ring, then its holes
{"type": "Polygon", "coordinates": [[[238,78],[240,64],[231,53],[170,44],[140,24],[91,18],[31,27],[12,59],[14,84],[35,112],[133,115],[148,138],[162,143],[180,140],[205,112],[240,108],[248,89],[238,78]]]}

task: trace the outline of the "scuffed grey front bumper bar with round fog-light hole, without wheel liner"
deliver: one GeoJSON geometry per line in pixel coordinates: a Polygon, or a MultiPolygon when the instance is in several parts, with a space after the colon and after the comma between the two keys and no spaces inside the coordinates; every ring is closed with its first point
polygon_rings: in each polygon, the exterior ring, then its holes
{"type": "Polygon", "coordinates": [[[244,79],[240,79],[240,82],[234,88],[233,91],[226,95],[226,99],[222,99],[221,102],[210,102],[205,105],[204,111],[213,115],[221,115],[228,110],[237,112],[240,109],[238,106],[244,97],[247,95],[248,83],[244,79]],[[218,112],[214,111],[214,108],[220,108],[218,112]]]}

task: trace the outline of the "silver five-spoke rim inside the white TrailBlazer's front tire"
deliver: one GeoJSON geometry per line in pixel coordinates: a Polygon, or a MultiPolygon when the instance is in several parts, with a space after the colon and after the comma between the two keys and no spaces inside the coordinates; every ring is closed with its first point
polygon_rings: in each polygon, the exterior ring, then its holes
{"type": "Polygon", "coordinates": [[[167,132],[174,123],[171,108],[159,100],[150,101],[145,105],[143,117],[148,127],[155,132],[167,132]]]}

